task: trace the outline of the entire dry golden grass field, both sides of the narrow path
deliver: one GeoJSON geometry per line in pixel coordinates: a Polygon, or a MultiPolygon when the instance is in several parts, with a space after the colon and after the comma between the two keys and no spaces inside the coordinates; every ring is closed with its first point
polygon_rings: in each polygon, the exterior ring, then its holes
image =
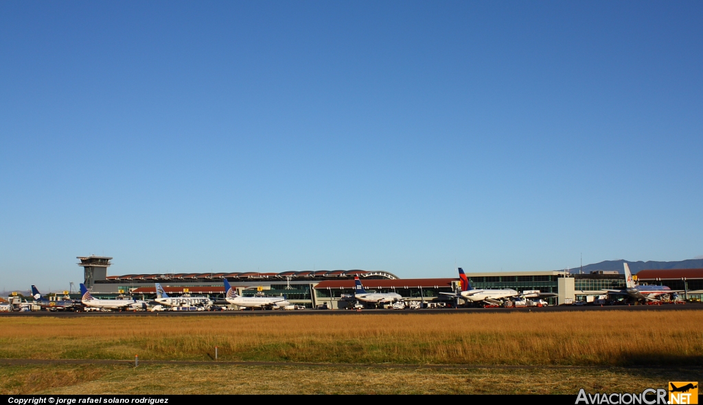
{"type": "Polygon", "coordinates": [[[633,392],[701,380],[703,311],[8,317],[0,323],[4,359],[135,354],[142,361],[203,363],[5,364],[0,394],[633,392]],[[213,364],[215,345],[219,361],[287,364],[213,364]],[[380,363],[388,366],[374,366],[380,363]],[[537,367],[490,368],[496,365],[537,367]]]}

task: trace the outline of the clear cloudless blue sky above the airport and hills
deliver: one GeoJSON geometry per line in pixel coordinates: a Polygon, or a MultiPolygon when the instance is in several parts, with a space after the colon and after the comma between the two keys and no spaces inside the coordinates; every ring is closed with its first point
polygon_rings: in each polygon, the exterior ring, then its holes
{"type": "Polygon", "coordinates": [[[2,1],[0,288],[703,255],[701,1],[2,1]]]}

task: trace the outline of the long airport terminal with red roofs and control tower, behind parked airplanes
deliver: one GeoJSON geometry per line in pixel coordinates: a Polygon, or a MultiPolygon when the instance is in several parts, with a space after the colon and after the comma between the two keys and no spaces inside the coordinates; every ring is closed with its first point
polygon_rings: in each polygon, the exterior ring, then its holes
{"type": "MultiPolygon", "coordinates": [[[[324,305],[331,309],[345,309],[349,301],[342,295],[354,293],[354,277],[359,277],[367,291],[398,293],[406,300],[422,303],[453,303],[453,298],[441,293],[458,289],[458,278],[400,279],[382,270],[316,270],[302,272],[209,272],[179,274],[107,274],[112,264],[110,257],[79,257],[84,267],[84,284],[96,298],[112,298],[131,294],[153,298],[154,283],[160,283],[172,296],[192,294],[224,299],[224,279],[242,296],[285,296],[292,304],[305,307],[324,305]]],[[[687,297],[700,298],[703,293],[703,269],[643,270],[639,274],[643,284],[670,286],[686,290],[687,297]],[[685,272],[679,274],[678,272],[685,272]],[[663,284],[662,284],[663,283],[663,284]],[[679,286],[678,284],[681,284],[679,286]]],[[[516,291],[539,290],[555,293],[548,298],[551,305],[586,302],[588,297],[601,297],[609,289],[625,288],[623,274],[593,272],[574,274],[568,271],[543,272],[474,272],[467,273],[473,288],[512,288],[516,291]]]]}

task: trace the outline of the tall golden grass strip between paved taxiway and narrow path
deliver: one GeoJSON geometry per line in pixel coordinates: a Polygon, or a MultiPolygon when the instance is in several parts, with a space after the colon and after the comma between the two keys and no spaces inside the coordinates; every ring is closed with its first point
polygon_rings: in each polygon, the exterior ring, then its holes
{"type": "Polygon", "coordinates": [[[703,311],[9,317],[0,358],[703,365],[703,311]]]}

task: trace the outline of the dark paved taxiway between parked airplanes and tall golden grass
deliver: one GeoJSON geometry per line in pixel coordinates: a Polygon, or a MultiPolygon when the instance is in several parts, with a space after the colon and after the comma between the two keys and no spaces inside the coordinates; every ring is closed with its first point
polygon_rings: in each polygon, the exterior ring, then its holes
{"type": "Polygon", "coordinates": [[[505,314],[508,312],[574,312],[574,311],[678,311],[678,310],[703,310],[703,304],[678,304],[678,305],[605,305],[582,307],[572,305],[562,305],[555,307],[530,307],[530,308],[457,308],[443,310],[363,310],[356,312],[352,310],[268,310],[268,311],[193,311],[193,312],[0,312],[0,319],[4,317],[260,317],[260,316],[297,316],[309,314],[325,315],[356,315],[368,314],[466,314],[466,313],[491,313],[505,314]]]}

